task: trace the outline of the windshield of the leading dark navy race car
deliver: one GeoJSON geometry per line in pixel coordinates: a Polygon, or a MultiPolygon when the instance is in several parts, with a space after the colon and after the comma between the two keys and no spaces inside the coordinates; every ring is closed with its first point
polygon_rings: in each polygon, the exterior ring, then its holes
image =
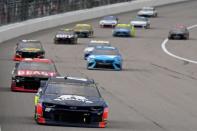
{"type": "Polygon", "coordinates": [[[45,94],[100,97],[96,87],[83,83],[50,83],[45,90],[45,94]]]}

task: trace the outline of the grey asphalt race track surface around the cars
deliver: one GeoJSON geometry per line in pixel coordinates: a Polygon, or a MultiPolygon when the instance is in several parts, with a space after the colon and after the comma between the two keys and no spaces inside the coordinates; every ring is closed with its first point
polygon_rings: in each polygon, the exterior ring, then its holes
{"type": "MultiPolygon", "coordinates": [[[[175,24],[197,24],[197,1],[158,7],[159,17],[151,19],[151,29],[137,29],[136,38],[113,38],[111,29],[100,29],[99,19],[90,23],[95,38],[109,40],[124,58],[123,71],[87,70],[83,49],[90,39],[78,45],[54,45],[53,37],[61,28],[22,36],[0,44],[0,125],[2,131],[197,131],[197,64],[167,55],[161,43],[175,24]],[[79,128],[37,125],[33,119],[32,93],[10,91],[11,60],[17,40],[38,39],[47,58],[56,62],[62,75],[95,79],[110,106],[108,127],[79,128]]],[[[119,14],[128,23],[136,12],[119,14]]],[[[66,25],[72,27],[74,24],[66,25]]],[[[190,40],[170,40],[167,49],[197,61],[197,28],[190,40]]]]}

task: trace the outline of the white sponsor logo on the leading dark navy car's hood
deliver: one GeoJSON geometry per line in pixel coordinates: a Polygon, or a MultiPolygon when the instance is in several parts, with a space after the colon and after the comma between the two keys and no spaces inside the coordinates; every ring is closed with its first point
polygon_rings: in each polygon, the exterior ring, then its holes
{"type": "Polygon", "coordinates": [[[73,100],[73,101],[79,101],[79,102],[84,102],[87,104],[93,103],[92,101],[88,100],[87,98],[83,96],[77,96],[77,95],[61,95],[58,98],[54,99],[56,101],[68,101],[68,100],[73,100]]]}

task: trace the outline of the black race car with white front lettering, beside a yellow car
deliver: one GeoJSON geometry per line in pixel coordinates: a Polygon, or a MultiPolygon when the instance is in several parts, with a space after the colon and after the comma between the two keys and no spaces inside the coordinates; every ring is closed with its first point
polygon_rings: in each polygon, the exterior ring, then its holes
{"type": "Polygon", "coordinates": [[[72,29],[62,29],[55,35],[54,43],[77,44],[77,38],[77,35],[72,29]]]}

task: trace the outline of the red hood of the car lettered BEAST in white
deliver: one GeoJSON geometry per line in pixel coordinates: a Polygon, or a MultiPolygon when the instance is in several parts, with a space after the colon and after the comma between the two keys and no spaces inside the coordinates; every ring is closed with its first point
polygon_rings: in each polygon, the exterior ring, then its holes
{"type": "Polygon", "coordinates": [[[56,76],[57,73],[50,71],[18,70],[16,75],[24,77],[53,77],[56,76]]]}

